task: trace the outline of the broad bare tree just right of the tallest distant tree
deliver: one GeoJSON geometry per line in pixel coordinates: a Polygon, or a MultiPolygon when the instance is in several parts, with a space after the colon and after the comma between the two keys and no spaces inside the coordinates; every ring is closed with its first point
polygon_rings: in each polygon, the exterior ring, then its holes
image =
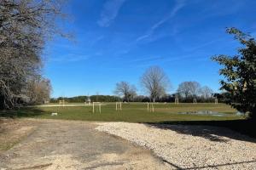
{"type": "Polygon", "coordinates": [[[177,93],[184,98],[195,98],[200,92],[201,85],[199,82],[182,82],[178,85],[177,93]]]}

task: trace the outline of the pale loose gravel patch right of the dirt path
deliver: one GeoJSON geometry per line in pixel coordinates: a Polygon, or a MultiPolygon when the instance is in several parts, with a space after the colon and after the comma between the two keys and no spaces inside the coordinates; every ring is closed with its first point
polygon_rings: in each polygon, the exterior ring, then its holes
{"type": "Polygon", "coordinates": [[[177,169],[256,169],[256,141],[223,127],[98,123],[111,133],[153,150],[177,169]]]}

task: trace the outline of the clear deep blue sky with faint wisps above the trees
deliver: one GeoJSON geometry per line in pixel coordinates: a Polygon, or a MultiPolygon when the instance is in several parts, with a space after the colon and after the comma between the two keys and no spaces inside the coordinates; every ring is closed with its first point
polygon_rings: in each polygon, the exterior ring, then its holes
{"type": "Polygon", "coordinates": [[[239,44],[225,33],[235,26],[256,36],[254,0],[73,0],[58,22],[73,32],[47,44],[44,76],[53,97],[113,94],[115,83],[131,82],[158,65],[172,82],[197,81],[218,91],[215,54],[236,54],[239,44]]]}

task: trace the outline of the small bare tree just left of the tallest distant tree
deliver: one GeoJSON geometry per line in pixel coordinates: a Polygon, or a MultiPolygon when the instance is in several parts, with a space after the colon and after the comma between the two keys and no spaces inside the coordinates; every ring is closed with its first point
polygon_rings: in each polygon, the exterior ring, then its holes
{"type": "Polygon", "coordinates": [[[114,94],[123,96],[125,101],[129,102],[136,96],[136,91],[135,86],[131,85],[129,82],[118,82],[116,83],[114,94]]]}

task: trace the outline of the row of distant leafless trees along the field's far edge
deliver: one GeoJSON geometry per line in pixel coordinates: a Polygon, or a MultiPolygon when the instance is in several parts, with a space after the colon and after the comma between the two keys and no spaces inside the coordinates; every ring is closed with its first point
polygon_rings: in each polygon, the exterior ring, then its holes
{"type": "Polygon", "coordinates": [[[114,94],[124,101],[151,101],[151,102],[172,102],[175,98],[181,102],[214,102],[216,95],[207,86],[201,87],[199,82],[182,82],[178,85],[176,94],[168,94],[171,87],[169,78],[159,66],[151,66],[146,70],[140,79],[141,86],[146,96],[137,96],[137,88],[129,82],[118,82],[114,94]]]}

